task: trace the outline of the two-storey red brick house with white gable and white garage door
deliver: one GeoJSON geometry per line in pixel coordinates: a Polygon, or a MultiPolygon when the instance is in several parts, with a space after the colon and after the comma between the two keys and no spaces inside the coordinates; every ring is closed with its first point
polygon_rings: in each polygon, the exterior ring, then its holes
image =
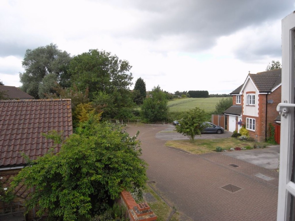
{"type": "Polygon", "coordinates": [[[224,111],[229,131],[239,131],[242,125],[257,141],[265,141],[269,123],[274,123],[281,102],[281,68],[248,74],[244,84],[230,93],[233,105],[224,111]],[[238,123],[238,122],[241,123],[238,123]]]}

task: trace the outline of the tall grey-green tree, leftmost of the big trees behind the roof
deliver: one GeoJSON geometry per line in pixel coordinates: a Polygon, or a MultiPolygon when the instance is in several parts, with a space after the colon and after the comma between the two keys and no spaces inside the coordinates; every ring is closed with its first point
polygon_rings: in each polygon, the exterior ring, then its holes
{"type": "Polygon", "coordinates": [[[52,88],[48,89],[49,79],[44,79],[49,74],[52,74],[50,81],[55,80],[62,87],[70,86],[67,72],[70,60],[70,54],[59,50],[56,44],[27,49],[22,61],[24,72],[19,73],[22,90],[35,98],[40,98],[40,88],[44,93],[51,93],[52,88]],[[53,75],[56,79],[52,79],[53,75]]]}

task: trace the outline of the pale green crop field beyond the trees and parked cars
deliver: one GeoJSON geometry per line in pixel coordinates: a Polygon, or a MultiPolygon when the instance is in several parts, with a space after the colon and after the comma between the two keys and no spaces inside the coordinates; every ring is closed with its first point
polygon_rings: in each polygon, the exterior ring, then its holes
{"type": "Polygon", "coordinates": [[[215,105],[222,98],[184,98],[168,101],[169,111],[186,111],[195,107],[204,109],[206,112],[215,110],[215,105]]]}

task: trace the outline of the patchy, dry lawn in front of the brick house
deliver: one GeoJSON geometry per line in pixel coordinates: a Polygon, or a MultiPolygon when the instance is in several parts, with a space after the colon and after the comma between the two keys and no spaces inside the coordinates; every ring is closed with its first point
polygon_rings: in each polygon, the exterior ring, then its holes
{"type": "Polygon", "coordinates": [[[165,146],[182,149],[192,154],[205,154],[215,151],[218,146],[228,150],[232,147],[253,147],[254,144],[260,147],[269,145],[266,142],[240,141],[237,138],[230,137],[220,139],[195,139],[194,143],[191,143],[190,140],[167,141],[165,146]]]}

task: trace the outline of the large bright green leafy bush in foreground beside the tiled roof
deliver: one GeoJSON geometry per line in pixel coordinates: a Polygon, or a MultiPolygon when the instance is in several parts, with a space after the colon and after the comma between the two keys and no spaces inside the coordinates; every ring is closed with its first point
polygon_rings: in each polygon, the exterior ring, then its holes
{"type": "Polygon", "coordinates": [[[46,212],[49,220],[88,220],[123,189],[145,186],[146,163],[140,154],[136,136],[92,116],[80,123],[59,153],[49,152],[23,168],[10,190],[19,183],[34,188],[25,205],[28,210],[37,206],[38,216],[46,212]]]}

